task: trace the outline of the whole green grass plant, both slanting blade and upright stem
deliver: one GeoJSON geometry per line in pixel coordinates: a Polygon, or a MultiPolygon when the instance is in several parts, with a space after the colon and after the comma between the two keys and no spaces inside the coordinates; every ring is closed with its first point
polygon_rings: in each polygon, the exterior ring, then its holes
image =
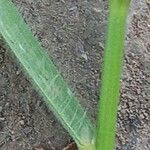
{"type": "Polygon", "coordinates": [[[113,150],[123,60],[125,20],[130,0],[109,0],[97,128],[92,125],[52,60],[11,0],[0,0],[0,33],[80,150],[113,150]]]}

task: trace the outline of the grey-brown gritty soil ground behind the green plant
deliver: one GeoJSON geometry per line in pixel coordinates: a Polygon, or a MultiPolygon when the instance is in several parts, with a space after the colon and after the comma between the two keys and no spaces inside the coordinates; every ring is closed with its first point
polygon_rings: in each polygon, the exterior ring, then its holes
{"type": "MultiPolygon", "coordinates": [[[[96,120],[106,0],[13,0],[34,35],[96,120]]],[[[62,150],[72,141],[0,41],[0,150],[62,150]]],[[[117,150],[150,150],[150,1],[132,0],[117,150]]]]}

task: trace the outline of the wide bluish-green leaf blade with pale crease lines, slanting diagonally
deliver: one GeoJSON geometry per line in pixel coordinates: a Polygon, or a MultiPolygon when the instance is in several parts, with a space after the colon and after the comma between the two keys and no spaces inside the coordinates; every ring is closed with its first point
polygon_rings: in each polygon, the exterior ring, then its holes
{"type": "Polygon", "coordinates": [[[78,146],[90,147],[94,127],[86,112],[10,0],[0,0],[0,33],[78,146]]]}

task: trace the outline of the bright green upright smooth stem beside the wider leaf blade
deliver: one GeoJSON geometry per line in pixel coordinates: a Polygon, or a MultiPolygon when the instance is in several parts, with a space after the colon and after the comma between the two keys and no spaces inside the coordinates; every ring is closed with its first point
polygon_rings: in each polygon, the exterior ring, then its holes
{"type": "Polygon", "coordinates": [[[96,150],[113,150],[119,102],[126,16],[130,0],[109,0],[109,25],[102,73],[96,150]]]}

